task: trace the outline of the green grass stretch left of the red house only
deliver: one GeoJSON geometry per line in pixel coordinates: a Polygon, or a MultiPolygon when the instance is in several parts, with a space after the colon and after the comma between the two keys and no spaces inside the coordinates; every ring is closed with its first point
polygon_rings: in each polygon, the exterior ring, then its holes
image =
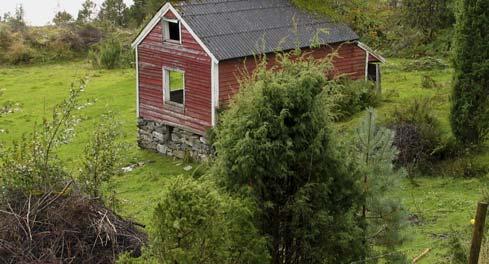
{"type": "MultiPolygon", "coordinates": [[[[155,153],[142,151],[136,144],[135,74],[133,69],[93,70],[90,65],[75,62],[19,68],[0,68],[0,97],[14,101],[22,110],[0,117],[0,142],[21,139],[22,134],[32,131],[50,109],[68,95],[72,82],[89,79],[82,96],[89,104],[76,115],[81,122],[76,127],[73,142],[60,148],[60,156],[70,169],[76,168],[83,147],[102,113],[112,111],[122,123],[124,141],[128,150],[126,162],[143,161],[145,166],[118,177],[115,181],[123,214],[147,223],[157,198],[164,189],[165,180],[185,174],[183,164],[155,153]]],[[[76,84],[75,84],[76,85],[76,84]]]]}

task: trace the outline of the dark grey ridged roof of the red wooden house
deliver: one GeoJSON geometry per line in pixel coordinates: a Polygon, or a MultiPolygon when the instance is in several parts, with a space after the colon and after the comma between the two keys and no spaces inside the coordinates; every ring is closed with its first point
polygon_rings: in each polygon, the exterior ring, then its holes
{"type": "Polygon", "coordinates": [[[309,47],[313,39],[358,39],[347,25],[310,15],[289,0],[189,0],[176,8],[218,60],[309,47]]]}

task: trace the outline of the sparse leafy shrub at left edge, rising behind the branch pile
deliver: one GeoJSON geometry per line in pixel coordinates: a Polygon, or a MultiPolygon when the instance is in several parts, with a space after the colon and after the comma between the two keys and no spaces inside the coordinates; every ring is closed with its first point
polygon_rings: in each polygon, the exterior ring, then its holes
{"type": "Polygon", "coordinates": [[[84,88],[84,81],[80,87],[72,85],[69,97],[54,107],[51,119],[44,118],[33,133],[0,150],[0,180],[4,190],[24,193],[60,190],[68,173],[55,150],[73,136],[77,120],[72,114],[84,88]]]}

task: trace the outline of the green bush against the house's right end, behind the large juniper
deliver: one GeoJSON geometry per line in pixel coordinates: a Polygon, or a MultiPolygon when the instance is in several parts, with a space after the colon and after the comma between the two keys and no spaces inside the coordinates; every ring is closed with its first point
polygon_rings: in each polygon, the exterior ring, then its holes
{"type": "Polygon", "coordinates": [[[329,83],[326,89],[332,98],[332,111],[337,120],[345,120],[380,102],[380,95],[372,82],[344,78],[329,83]]]}

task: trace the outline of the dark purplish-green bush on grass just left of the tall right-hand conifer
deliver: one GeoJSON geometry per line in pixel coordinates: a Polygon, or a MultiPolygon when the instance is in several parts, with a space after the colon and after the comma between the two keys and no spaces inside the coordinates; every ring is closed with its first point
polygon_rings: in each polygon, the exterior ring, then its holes
{"type": "Polygon", "coordinates": [[[428,167],[442,144],[442,132],[433,116],[431,100],[416,99],[408,107],[396,108],[387,123],[395,131],[397,164],[406,168],[428,167]]]}

